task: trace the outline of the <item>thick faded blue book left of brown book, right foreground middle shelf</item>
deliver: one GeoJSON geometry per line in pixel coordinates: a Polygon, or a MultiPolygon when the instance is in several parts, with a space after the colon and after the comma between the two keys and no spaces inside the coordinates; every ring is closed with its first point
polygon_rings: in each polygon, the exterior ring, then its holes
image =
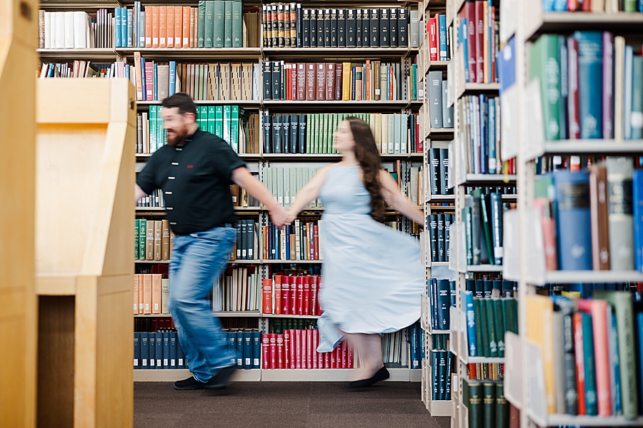
{"type": "Polygon", "coordinates": [[[589,172],[554,174],[560,270],[592,270],[589,172]]]}

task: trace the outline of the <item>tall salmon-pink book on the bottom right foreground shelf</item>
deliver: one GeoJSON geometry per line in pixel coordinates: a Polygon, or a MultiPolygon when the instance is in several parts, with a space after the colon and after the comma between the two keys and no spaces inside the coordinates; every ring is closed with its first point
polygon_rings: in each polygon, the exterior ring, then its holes
{"type": "MultiPolygon", "coordinates": [[[[596,367],[596,392],[599,416],[612,416],[612,391],[609,381],[609,339],[607,314],[612,310],[605,300],[578,300],[578,310],[592,315],[594,331],[594,367],[596,367]]],[[[611,323],[612,320],[610,319],[611,323]]]]}

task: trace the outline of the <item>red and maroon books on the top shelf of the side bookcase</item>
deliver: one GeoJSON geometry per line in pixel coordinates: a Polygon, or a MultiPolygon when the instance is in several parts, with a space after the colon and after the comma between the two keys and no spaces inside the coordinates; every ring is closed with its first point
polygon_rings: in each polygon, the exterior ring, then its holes
{"type": "Polygon", "coordinates": [[[500,47],[500,22],[491,1],[467,1],[459,11],[458,41],[467,66],[467,83],[498,81],[496,56],[500,47]]]}

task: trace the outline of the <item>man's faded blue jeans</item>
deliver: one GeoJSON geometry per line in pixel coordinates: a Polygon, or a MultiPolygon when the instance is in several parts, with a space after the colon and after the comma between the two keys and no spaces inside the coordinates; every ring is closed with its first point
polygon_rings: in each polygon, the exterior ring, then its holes
{"type": "Polygon", "coordinates": [[[232,365],[236,358],[209,300],[235,239],[233,228],[213,228],[174,238],[168,305],[190,372],[201,382],[232,365]]]}

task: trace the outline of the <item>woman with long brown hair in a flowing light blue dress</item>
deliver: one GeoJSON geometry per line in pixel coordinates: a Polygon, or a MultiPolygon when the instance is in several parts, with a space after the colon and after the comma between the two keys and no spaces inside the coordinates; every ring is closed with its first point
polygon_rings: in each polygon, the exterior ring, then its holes
{"type": "Polygon", "coordinates": [[[333,144],[342,161],[319,170],[299,190],[288,221],[311,200],[323,201],[319,302],[324,314],[317,322],[317,351],[332,351],[342,337],[347,339],[362,360],[359,380],[349,387],[367,387],[389,377],[380,334],[417,321],[424,293],[419,244],[376,220],[384,218],[385,201],[417,223],[424,223],[424,215],[382,169],[366,122],[354,117],[342,121],[333,144]]]}

